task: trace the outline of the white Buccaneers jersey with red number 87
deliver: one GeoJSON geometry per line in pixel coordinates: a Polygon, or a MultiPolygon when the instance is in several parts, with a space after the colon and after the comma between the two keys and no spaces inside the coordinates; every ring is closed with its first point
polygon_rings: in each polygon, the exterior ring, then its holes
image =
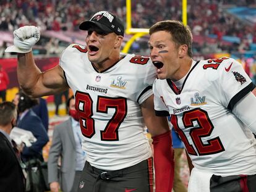
{"type": "Polygon", "coordinates": [[[127,54],[98,72],[87,48],[72,44],[59,65],[75,94],[86,160],[98,169],[118,170],[151,157],[140,108],[153,94],[156,73],[150,58],[127,54]]]}

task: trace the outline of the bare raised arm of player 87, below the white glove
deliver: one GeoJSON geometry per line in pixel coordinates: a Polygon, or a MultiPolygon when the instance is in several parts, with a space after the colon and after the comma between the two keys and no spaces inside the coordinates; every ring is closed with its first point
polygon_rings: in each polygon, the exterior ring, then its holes
{"type": "Polygon", "coordinates": [[[18,53],[17,75],[22,90],[33,97],[59,93],[68,88],[62,68],[57,65],[41,72],[35,64],[32,51],[18,53]]]}

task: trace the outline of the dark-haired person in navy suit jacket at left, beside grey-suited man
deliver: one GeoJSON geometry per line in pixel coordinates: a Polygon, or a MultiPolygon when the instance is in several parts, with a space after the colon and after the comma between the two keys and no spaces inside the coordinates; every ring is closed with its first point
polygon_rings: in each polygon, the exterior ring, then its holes
{"type": "Polygon", "coordinates": [[[27,146],[23,147],[21,152],[22,160],[26,162],[36,158],[43,161],[42,149],[49,141],[49,138],[41,119],[32,110],[32,107],[38,104],[38,101],[20,91],[15,96],[14,103],[18,103],[19,119],[17,120],[17,127],[31,131],[36,138],[36,142],[32,143],[32,146],[29,148],[27,146]],[[17,98],[19,98],[18,102],[16,101],[17,98]]]}

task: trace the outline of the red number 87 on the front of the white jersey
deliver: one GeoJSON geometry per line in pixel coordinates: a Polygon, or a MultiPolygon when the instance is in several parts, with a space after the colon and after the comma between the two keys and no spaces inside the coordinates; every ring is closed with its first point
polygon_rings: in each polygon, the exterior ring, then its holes
{"type": "MultiPolygon", "coordinates": [[[[118,128],[127,115],[126,98],[109,98],[98,96],[96,103],[97,113],[108,113],[109,108],[114,108],[113,117],[108,121],[105,129],[100,131],[102,141],[118,141],[118,128]]],[[[92,138],[95,135],[95,120],[93,116],[93,100],[88,93],[77,91],[75,93],[75,109],[79,112],[80,128],[83,136],[92,138]]]]}

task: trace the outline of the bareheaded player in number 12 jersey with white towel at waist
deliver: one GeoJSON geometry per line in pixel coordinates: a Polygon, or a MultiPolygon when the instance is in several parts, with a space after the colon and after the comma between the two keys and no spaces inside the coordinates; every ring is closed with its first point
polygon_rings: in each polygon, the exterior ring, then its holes
{"type": "Polygon", "coordinates": [[[192,33],[166,20],[150,28],[157,115],[171,123],[194,168],[189,191],[256,191],[254,84],[236,60],[192,59],[192,33]]]}

